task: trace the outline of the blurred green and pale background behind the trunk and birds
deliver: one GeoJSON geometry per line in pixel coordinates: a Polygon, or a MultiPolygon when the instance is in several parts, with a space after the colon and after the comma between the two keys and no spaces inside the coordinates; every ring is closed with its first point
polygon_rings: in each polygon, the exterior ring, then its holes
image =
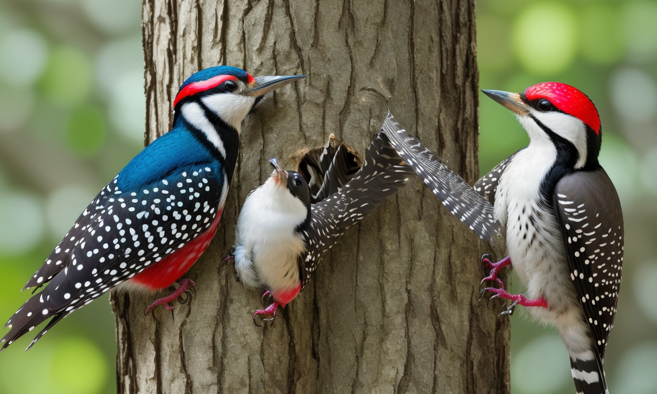
{"type": "MultiPolygon", "coordinates": [[[[27,299],[18,290],[143,146],[140,18],[136,0],[0,0],[0,318],[27,299]]],[[[613,393],[657,393],[657,1],[478,0],[477,18],[482,89],[562,81],[600,111],[600,162],[626,229],[605,369],[613,393]]],[[[485,96],[480,125],[482,174],[528,142],[485,96]]],[[[0,356],[0,393],[116,392],[107,295],[25,353],[29,337],[0,356]]],[[[511,365],[513,394],[574,392],[555,330],[522,313],[512,317],[511,365]]]]}

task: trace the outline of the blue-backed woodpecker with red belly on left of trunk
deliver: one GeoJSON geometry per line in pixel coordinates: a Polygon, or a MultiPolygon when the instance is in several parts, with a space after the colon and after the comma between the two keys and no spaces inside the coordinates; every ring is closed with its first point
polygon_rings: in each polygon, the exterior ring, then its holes
{"type": "MultiPolygon", "coordinates": [[[[39,288],[7,321],[0,351],[116,286],[166,289],[206,250],[221,218],[237,162],[241,123],[267,93],[305,76],[252,77],[216,66],[196,72],[173,100],[173,129],[156,139],[79,215],[24,288],[39,288]]],[[[187,289],[182,280],[168,306],[187,289]]]]}

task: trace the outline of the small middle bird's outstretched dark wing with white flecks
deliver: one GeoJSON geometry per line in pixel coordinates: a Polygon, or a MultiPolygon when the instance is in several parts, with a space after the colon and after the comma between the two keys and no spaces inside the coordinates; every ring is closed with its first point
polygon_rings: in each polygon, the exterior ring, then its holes
{"type": "Polygon", "coordinates": [[[360,171],[339,192],[312,205],[309,226],[301,229],[307,250],[299,258],[303,286],[317,268],[321,254],[332,248],[351,225],[394,196],[412,174],[388,137],[378,133],[365,152],[360,171]]]}

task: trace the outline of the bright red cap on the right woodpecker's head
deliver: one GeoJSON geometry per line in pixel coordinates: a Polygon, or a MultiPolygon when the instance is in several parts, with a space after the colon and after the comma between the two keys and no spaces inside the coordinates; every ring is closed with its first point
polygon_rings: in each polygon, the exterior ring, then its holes
{"type": "Polygon", "coordinates": [[[543,82],[525,89],[528,100],[547,99],[559,110],[583,121],[600,134],[600,116],[595,105],[575,87],[559,82],[543,82]]]}

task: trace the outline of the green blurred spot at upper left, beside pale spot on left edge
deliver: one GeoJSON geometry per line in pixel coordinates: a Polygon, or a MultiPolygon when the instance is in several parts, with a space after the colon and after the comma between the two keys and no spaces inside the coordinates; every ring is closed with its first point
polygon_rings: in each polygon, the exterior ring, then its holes
{"type": "Polygon", "coordinates": [[[62,106],[81,102],[91,89],[91,64],[85,53],[73,47],[53,49],[41,78],[43,93],[62,106]]]}

